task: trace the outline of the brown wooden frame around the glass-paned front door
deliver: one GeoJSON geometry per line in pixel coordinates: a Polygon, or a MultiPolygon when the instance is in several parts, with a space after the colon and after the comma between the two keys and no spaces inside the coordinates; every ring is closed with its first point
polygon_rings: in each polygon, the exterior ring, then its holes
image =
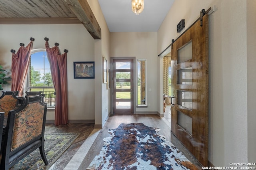
{"type": "Polygon", "coordinates": [[[114,97],[113,97],[113,93],[114,93],[114,81],[113,81],[113,59],[133,59],[133,113],[132,115],[136,112],[136,97],[137,97],[137,91],[138,89],[136,89],[136,57],[110,57],[110,70],[111,70],[111,74],[110,74],[110,94],[111,94],[111,114],[113,115],[113,108],[114,108],[114,97]]]}

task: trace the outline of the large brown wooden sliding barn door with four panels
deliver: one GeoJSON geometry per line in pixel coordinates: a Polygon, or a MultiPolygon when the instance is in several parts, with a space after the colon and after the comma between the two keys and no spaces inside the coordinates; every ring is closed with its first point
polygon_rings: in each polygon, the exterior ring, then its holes
{"type": "Polygon", "coordinates": [[[208,15],[172,43],[172,133],[208,165],[208,15]]]}

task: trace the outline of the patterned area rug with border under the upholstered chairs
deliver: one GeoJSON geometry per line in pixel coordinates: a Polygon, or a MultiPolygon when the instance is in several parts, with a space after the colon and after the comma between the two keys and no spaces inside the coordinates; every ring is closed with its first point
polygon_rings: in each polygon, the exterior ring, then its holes
{"type": "Polygon", "coordinates": [[[48,170],[65,150],[76,140],[79,133],[49,133],[44,134],[44,151],[48,160],[45,166],[39,148],[10,168],[11,170],[48,170]]]}

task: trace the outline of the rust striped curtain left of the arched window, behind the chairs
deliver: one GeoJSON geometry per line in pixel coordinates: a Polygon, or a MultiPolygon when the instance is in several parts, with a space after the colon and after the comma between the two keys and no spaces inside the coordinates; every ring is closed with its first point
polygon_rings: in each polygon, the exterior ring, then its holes
{"type": "MultiPolygon", "coordinates": [[[[22,43],[21,43],[22,44],[22,43]]],[[[17,53],[12,53],[12,91],[20,91],[23,94],[23,87],[28,73],[30,51],[33,47],[31,41],[26,47],[24,44],[18,49],[17,53]]]]}

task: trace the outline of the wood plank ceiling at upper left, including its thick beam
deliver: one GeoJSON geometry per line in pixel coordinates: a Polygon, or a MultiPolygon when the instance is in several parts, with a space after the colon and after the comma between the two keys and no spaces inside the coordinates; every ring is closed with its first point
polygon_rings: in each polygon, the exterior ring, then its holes
{"type": "Polygon", "coordinates": [[[87,0],[1,0],[0,24],[83,24],[94,39],[101,39],[87,0]]]}

